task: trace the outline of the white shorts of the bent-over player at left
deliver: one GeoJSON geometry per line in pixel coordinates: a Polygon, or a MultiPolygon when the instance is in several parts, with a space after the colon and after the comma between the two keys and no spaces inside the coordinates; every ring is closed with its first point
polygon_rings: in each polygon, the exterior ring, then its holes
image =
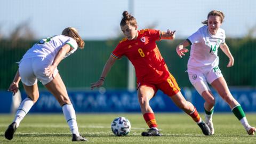
{"type": "MultiPolygon", "coordinates": [[[[21,82],[27,86],[37,83],[37,78],[43,85],[52,81],[52,77],[44,74],[44,68],[50,66],[52,61],[41,57],[24,59],[19,64],[21,82]]],[[[58,69],[54,70],[53,76],[57,75],[58,69]]]]}

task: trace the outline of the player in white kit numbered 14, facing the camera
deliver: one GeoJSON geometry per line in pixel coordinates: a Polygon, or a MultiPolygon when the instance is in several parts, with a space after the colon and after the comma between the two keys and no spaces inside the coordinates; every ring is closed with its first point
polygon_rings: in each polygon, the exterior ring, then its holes
{"type": "Polygon", "coordinates": [[[225,43],[225,31],[220,28],[224,17],[221,11],[211,11],[207,16],[207,20],[202,22],[205,26],[199,28],[196,33],[179,44],[176,51],[178,55],[182,57],[182,55],[188,52],[188,49],[185,49],[185,47],[191,45],[187,70],[188,76],[191,84],[193,84],[197,92],[201,94],[205,100],[205,122],[210,128],[211,134],[214,134],[212,114],[215,99],[207,82],[211,84],[213,88],[217,90],[221,98],[228,103],[247,133],[253,135],[255,127],[250,126],[247,122],[241,105],[239,105],[233,95],[231,95],[227,83],[218,67],[218,47],[220,47],[229,58],[227,67],[234,65],[234,58],[229,51],[228,45],[225,43]]]}

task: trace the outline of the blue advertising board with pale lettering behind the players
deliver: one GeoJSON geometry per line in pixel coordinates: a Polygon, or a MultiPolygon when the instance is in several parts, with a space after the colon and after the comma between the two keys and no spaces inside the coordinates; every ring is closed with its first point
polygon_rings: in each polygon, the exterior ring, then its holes
{"type": "MultiPolygon", "coordinates": [[[[244,111],[256,112],[256,90],[255,89],[230,89],[234,98],[241,104],[244,111]]],[[[5,101],[0,105],[0,113],[9,113],[12,103],[11,94],[0,92],[0,100],[5,101]],[[3,97],[3,95],[5,95],[3,97]]],[[[69,91],[69,98],[78,113],[105,113],[105,112],[140,112],[137,91],[107,90],[107,91],[69,91]]],[[[203,98],[195,89],[183,89],[182,94],[193,103],[198,111],[204,111],[203,98]]],[[[215,95],[215,112],[229,112],[227,103],[213,91],[215,95]]],[[[26,93],[21,92],[22,99],[26,93]]],[[[150,101],[150,106],[155,112],[179,112],[180,110],[172,100],[163,92],[158,91],[150,101]]],[[[50,92],[40,92],[40,97],[31,108],[30,113],[61,113],[62,109],[58,101],[50,92]]]]}

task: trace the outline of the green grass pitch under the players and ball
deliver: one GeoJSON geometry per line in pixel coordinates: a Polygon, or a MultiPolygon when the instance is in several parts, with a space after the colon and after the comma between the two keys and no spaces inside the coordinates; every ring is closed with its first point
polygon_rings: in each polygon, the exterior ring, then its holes
{"type": "MultiPolygon", "coordinates": [[[[256,143],[255,135],[248,135],[232,114],[214,114],[215,134],[205,136],[197,124],[185,113],[158,113],[156,120],[162,137],[141,137],[148,129],[142,114],[77,114],[79,132],[86,143],[256,143]],[[116,137],[110,124],[117,116],[129,119],[131,132],[116,137]]],[[[201,114],[203,116],[203,114],[201,114]]],[[[248,113],[247,119],[256,126],[256,114],[248,113]]],[[[0,143],[71,143],[71,134],[61,114],[28,114],[9,141],[4,138],[13,115],[0,115],[0,143]]]]}

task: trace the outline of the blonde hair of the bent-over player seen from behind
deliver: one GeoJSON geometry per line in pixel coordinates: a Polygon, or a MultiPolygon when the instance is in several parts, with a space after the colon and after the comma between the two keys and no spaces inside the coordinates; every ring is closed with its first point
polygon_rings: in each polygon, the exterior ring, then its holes
{"type": "Polygon", "coordinates": [[[81,36],[79,36],[78,34],[78,31],[73,28],[73,27],[67,27],[65,28],[63,31],[62,31],[62,34],[61,35],[64,35],[64,36],[69,36],[71,38],[74,38],[78,47],[80,49],[84,49],[84,41],[83,39],[81,38],[81,36]]]}

